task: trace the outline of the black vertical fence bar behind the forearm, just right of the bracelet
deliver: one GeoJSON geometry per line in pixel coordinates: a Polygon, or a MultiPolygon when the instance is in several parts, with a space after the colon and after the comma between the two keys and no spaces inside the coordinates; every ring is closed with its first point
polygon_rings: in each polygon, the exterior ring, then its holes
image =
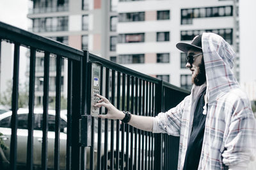
{"type": "MultiPolygon", "coordinates": [[[[138,115],[138,77],[135,78],[135,110],[134,114],[138,115]]],[[[138,128],[134,128],[134,169],[138,168],[138,128]]]]}

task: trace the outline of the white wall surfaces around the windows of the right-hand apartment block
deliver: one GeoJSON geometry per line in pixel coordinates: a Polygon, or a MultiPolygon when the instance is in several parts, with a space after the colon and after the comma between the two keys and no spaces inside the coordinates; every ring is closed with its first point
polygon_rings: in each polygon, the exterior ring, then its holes
{"type": "MultiPolygon", "coordinates": [[[[145,54],[170,52],[170,63],[126,64],[129,68],[148,75],[170,75],[170,83],[180,86],[180,74],[191,74],[188,69],[180,69],[180,31],[201,29],[225,29],[234,27],[234,17],[211,17],[193,19],[193,24],[180,25],[181,8],[200,8],[232,5],[233,1],[127,1],[118,3],[118,13],[170,10],[170,20],[145,20],[139,22],[118,22],[118,34],[145,33],[143,43],[118,43],[117,54],[145,54]],[[156,33],[170,31],[170,42],[157,42],[156,33]],[[155,36],[150,38],[148,36],[155,36]]],[[[234,31],[234,30],[233,30],[234,31]]]]}

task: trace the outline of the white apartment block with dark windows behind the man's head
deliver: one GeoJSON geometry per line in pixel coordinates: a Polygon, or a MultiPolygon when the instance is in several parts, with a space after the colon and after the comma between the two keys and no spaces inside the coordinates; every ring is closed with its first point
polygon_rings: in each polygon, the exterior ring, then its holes
{"type": "MultiPolygon", "coordinates": [[[[235,1],[119,1],[116,56],[124,66],[191,88],[191,72],[185,68],[186,54],[177,42],[191,42],[195,35],[213,32],[223,36],[239,53],[235,1]]],[[[239,79],[239,54],[234,68],[239,79]]]]}

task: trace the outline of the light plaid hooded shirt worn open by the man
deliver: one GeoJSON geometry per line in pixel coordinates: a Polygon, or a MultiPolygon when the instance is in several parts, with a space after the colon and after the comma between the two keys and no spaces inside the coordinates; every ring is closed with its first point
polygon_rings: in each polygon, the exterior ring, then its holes
{"type": "Polygon", "coordinates": [[[191,95],[176,107],[159,113],[153,132],[180,136],[178,169],[184,159],[197,99],[206,86],[205,132],[198,169],[247,167],[256,153],[256,121],[250,101],[241,91],[231,68],[235,53],[218,35],[202,36],[207,83],[193,86],[191,95]]]}

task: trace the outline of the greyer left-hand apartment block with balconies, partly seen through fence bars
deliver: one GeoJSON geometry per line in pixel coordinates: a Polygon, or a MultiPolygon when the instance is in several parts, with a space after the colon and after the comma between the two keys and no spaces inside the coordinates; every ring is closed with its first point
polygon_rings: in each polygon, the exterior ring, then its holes
{"type": "MultiPolygon", "coordinates": [[[[115,55],[115,50],[109,50],[109,40],[115,41],[111,36],[116,36],[116,28],[109,27],[111,17],[113,16],[111,20],[116,20],[116,12],[113,11],[115,9],[116,6],[111,5],[110,1],[101,0],[33,0],[33,8],[29,9],[28,13],[33,26],[29,31],[65,43],[70,47],[89,50],[93,54],[108,58],[109,53],[115,55]]],[[[66,98],[67,60],[64,59],[62,65],[61,95],[66,98]]],[[[35,76],[35,102],[40,104],[44,84],[42,52],[36,52],[35,76]]],[[[56,59],[52,57],[49,79],[50,98],[55,96],[55,84],[56,59]]]]}

